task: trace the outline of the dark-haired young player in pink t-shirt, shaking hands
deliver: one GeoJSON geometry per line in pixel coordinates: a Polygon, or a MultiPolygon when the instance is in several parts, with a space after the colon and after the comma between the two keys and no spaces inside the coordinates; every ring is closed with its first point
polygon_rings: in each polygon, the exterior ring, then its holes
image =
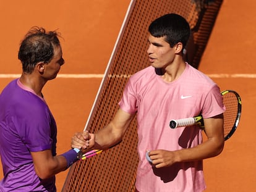
{"type": "MultiPolygon", "coordinates": [[[[148,32],[151,66],[130,77],[113,120],[91,134],[95,147],[107,149],[119,143],[137,114],[136,190],[203,191],[206,186],[202,161],[220,154],[224,146],[220,88],[184,61],[190,27],[183,17],[163,15],[150,24],[148,32]],[[202,114],[205,123],[204,142],[197,125],[169,128],[171,119],[198,114],[202,114]],[[147,152],[151,162],[146,158],[147,152]]],[[[83,148],[84,142],[83,134],[79,133],[72,146],[83,148]]]]}

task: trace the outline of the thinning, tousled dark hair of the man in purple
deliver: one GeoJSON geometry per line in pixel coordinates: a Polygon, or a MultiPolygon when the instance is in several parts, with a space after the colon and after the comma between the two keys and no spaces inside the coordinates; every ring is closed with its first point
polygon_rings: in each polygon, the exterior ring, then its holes
{"type": "Polygon", "coordinates": [[[22,70],[32,73],[38,62],[49,63],[54,56],[54,48],[60,47],[56,31],[46,32],[45,28],[32,27],[20,44],[18,58],[22,62],[22,70]]]}

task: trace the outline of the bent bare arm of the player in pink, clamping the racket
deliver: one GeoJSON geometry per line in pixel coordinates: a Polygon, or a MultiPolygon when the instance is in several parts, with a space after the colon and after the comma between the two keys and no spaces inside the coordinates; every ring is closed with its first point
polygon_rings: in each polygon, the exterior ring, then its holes
{"type": "Polygon", "coordinates": [[[203,119],[207,141],[194,148],[177,151],[155,150],[150,151],[150,158],[156,168],[167,167],[176,162],[199,161],[217,156],[224,147],[223,116],[203,119]]]}

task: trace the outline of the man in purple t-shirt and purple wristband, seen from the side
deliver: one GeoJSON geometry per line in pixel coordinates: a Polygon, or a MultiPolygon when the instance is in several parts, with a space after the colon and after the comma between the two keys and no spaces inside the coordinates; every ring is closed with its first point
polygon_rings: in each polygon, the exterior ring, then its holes
{"type": "Polygon", "coordinates": [[[64,64],[58,36],[28,31],[19,49],[22,75],[0,94],[1,192],[56,191],[56,173],[81,156],[78,149],[56,156],[56,122],[41,92],[64,64]]]}

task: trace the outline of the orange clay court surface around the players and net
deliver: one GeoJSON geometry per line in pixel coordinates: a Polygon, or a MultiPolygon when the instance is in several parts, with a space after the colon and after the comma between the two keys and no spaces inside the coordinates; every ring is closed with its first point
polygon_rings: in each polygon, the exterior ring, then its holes
{"type": "MultiPolygon", "coordinates": [[[[101,75],[97,74],[105,72],[129,3],[129,0],[0,2],[0,92],[20,74],[19,43],[34,25],[61,32],[66,64],[59,74],[93,74],[88,78],[58,77],[43,90],[58,125],[58,154],[70,148],[72,135],[85,126],[101,83],[101,75]]],[[[242,98],[242,116],[236,132],[226,141],[220,156],[204,161],[208,192],[256,191],[256,131],[252,122],[256,118],[255,6],[256,2],[249,0],[223,1],[198,67],[211,75],[221,90],[236,90],[242,98]]],[[[67,172],[56,175],[58,191],[67,172]]]]}

